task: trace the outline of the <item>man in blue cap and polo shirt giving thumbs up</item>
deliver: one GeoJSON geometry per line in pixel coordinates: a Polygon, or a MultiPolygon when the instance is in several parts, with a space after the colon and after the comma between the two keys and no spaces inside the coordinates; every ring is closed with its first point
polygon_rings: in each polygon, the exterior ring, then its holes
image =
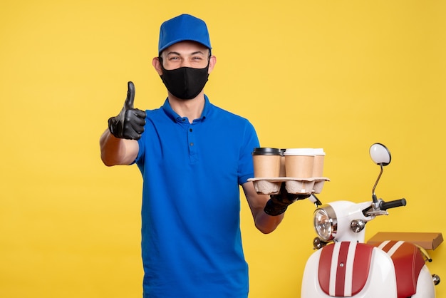
{"type": "Polygon", "coordinates": [[[239,227],[242,185],[256,227],[275,230],[295,195],[259,195],[248,120],[204,95],[216,63],[207,26],[182,14],[160,29],[152,65],[167,88],[162,107],[133,108],[128,83],[122,111],[100,138],[105,165],[136,163],[142,190],[144,297],[247,297],[248,267],[239,227]]]}

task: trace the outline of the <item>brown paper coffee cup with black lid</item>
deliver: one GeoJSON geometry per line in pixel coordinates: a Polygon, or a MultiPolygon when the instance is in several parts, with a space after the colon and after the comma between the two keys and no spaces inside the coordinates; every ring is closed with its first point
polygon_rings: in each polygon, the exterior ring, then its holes
{"type": "Polygon", "coordinates": [[[278,148],[254,148],[252,160],[255,178],[277,178],[282,152],[278,148]]]}

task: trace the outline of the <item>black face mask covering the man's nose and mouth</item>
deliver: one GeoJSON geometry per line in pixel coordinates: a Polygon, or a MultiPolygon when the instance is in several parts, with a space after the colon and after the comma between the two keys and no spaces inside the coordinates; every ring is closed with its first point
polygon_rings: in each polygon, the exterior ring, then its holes
{"type": "Polygon", "coordinates": [[[205,68],[180,67],[167,70],[162,66],[162,82],[173,96],[180,99],[192,99],[202,92],[209,73],[209,63],[205,68]]]}

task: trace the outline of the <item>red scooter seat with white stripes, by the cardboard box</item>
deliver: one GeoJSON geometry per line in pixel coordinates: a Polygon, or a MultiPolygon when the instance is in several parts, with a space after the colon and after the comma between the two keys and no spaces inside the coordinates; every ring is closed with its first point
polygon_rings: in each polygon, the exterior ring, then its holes
{"type": "Polygon", "coordinates": [[[425,264],[418,247],[404,241],[384,241],[375,246],[387,252],[393,260],[398,298],[411,297],[415,294],[418,276],[425,264]]]}

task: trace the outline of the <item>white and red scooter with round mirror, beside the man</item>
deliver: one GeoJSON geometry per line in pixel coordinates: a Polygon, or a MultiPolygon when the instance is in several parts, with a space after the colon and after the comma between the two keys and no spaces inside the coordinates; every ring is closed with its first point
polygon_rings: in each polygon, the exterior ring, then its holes
{"type": "Polygon", "coordinates": [[[385,202],[375,195],[375,188],[390,163],[389,150],[380,143],[370,147],[370,157],[380,165],[373,186],[372,200],[316,203],[313,223],[318,237],[316,249],[306,262],[301,298],[327,297],[435,297],[440,277],[431,274],[424,249],[411,242],[389,239],[376,245],[364,242],[365,224],[388,210],[406,205],[405,199],[385,202]]]}

